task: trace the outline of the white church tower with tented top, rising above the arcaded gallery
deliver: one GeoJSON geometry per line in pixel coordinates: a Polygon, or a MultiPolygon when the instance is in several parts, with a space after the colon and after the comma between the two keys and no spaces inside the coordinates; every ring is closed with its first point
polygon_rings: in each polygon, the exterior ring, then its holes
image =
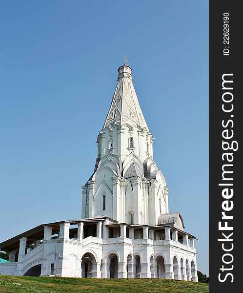
{"type": "Polygon", "coordinates": [[[118,68],[118,83],[100,131],[94,173],[82,187],[82,218],[107,216],[119,223],[158,224],[169,212],[168,188],[153,159],[149,131],[132,83],[132,69],[118,68]]]}

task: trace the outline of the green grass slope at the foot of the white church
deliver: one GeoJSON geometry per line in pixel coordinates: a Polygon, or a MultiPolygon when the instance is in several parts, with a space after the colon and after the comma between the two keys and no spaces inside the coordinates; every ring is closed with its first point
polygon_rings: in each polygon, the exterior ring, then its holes
{"type": "Polygon", "coordinates": [[[1,293],[208,293],[208,284],[166,279],[93,279],[0,275],[1,293]]]}

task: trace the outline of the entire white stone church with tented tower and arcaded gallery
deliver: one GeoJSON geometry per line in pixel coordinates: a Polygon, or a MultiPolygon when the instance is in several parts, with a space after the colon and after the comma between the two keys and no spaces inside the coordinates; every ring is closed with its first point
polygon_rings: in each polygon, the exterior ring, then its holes
{"type": "Polygon", "coordinates": [[[153,140],[124,64],[94,172],[82,186],[81,219],[42,224],[0,243],[10,253],[0,274],[198,281],[196,237],[184,230],[180,212],[169,212],[153,140]]]}

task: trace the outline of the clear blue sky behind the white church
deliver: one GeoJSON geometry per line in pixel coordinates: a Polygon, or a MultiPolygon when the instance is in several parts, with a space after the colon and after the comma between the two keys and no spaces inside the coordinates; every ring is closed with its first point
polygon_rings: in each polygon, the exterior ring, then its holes
{"type": "Polygon", "coordinates": [[[208,1],[0,0],[0,242],[81,218],[127,52],[169,210],[208,274],[208,1]]]}

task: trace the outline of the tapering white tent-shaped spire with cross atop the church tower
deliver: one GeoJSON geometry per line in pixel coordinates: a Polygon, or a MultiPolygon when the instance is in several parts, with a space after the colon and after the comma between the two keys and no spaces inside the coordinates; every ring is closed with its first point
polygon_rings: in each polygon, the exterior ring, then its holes
{"type": "Polygon", "coordinates": [[[118,83],[102,129],[114,124],[145,127],[149,132],[132,83],[132,68],[126,64],[118,68],[118,83]]]}

